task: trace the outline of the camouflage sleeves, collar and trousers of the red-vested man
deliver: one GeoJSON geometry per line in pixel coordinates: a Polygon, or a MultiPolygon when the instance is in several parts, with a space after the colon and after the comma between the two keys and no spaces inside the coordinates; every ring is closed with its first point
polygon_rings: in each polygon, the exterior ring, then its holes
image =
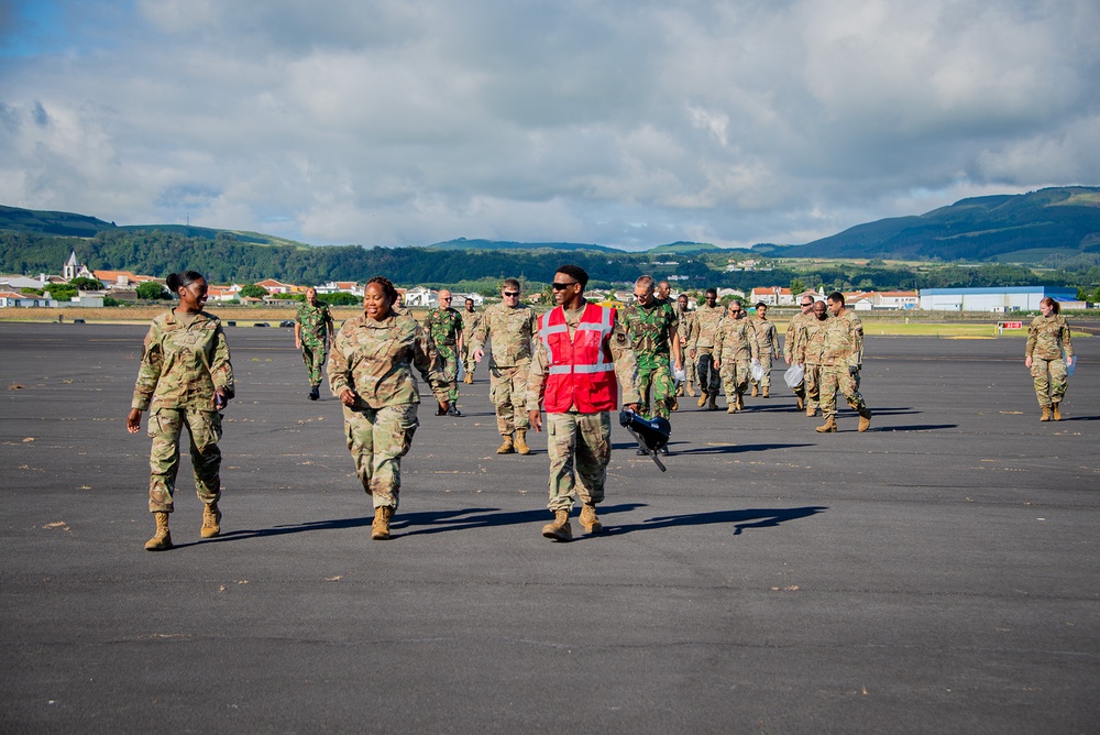
{"type": "MultiPolygon", "coordinates": [[[[585,304],[585,306],[587,306],[585,304]]],[[[572,339],[581,322],[584,308],[565,311],[565,325],[572,339]]],[[[546,345],[536,340],[531,358],[531,372],[527,382],[527,405],[541,406],[542,390],[550,372],[546,345]]],[[[623,392],[623,403],[640,403],[638,391],[638,362],[630,348],[630,337],[623,322],[615,320],[608,347],[615,363],[615,377],[623,392]]],[[[569,511],[574,495],[581,502],[595,505],[604,500],[607,463],[612,459],[610,412],[582,414],[575,406],[563,414],[547,414],[547,453],[550,456],[551,512],[569,511]]]]}

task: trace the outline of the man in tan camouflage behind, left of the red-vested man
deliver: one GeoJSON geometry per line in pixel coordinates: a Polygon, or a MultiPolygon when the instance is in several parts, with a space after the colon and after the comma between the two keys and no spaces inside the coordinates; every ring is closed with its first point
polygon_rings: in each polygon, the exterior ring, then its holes
{"type": "Polygon", "coordinates": [[[538,317],[535,309],[519,303],[519,282],[505,279],[501,303],[485,309],[484,319],[474,332],[474,360],[485,356],[485,342],[492,341],[488,363],[490,398],[496,407],[496,428],[504,437],[497,454],[530,454],[527,429],[527,372],[531,364],[531,348],[538,317]],[[515,441],[513,441],[515,435],[515,441]]]}

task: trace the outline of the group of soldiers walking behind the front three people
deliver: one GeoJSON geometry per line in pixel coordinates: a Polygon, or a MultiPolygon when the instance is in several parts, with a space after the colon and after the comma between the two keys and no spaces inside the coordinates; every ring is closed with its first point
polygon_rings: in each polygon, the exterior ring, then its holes
{"type": "MultiPolygon", "coordinates": [[[[502,436],[501,454],[531,451],[526,393],[538,315],[520,301],[521,296],[519,281],[507,278],[498,304],[477,311],[473,299],[466,298],[460,311],[451,306],[451,293],[442,289],[439,306],[424,320],[428,341],[439,353],[448,377],[448,413],[452,416],[462,415],[458,408],[460,365],[464,373],[461,382],[473,383],[486,344],[491,345],[490,398],[502,436]]],[[[723,306],[717,303],[717,292],[707,288],[703,303],[690,309],[686,294],[672,300],[669,282],[658,283],[648,275],[637,279],[634,296],[634,303],[620,311],[620,320],[632,343],[641,413],[647,418],[670,418],[679,409],[679,398],[695,397],[696,390],[700,408],[717,410],[724,393],[726,413],[744,410],[746,393],[771,397],[773,361],[782,356],[788,365],[803,369],[804,376],[793,390],[799,410],[804,409],[809,417],[820,410],[824,416],[817,431],[837,430],[837,392],[859,414],[859,431],[869,428],[871,412],[859,394],[862,326],[845,306],[843,294],[833,293],[824,301],[803,294],[800,312],[787,327],[782,354],[778,330],[763,303],[756,305],[756,315],[750,317],[740,299],[723,306]]],[[[296,338],[310,373],[309,397],[314,399],[320,383],[318,352],[323,355],[331,334],[327,308],[307,293],[296,338]]],[[[645,453],[644,449],[638,451],[645,453]]],[[[668,453],[668,448],[662,451],[668,453]]]]}

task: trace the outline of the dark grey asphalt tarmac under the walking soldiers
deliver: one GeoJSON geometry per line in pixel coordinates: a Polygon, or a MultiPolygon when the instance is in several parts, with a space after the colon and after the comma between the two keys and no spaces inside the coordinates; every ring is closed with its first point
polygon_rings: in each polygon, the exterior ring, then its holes
{"type": "Polygon", "coordinates": [[[870,334],[866,434],[816,434],[779,366],[743,414],[681,401],[667,473],[616,424],[607,533],[570,544],[483,364],[464,417],[426,396],[382,542],[292,330],[229,328],[222,536],[185,450],[150,553],[144,332],[0,323],[2,732],[1100,726],[1096,339],[1060,423],[1020,338],[870,334]]]}

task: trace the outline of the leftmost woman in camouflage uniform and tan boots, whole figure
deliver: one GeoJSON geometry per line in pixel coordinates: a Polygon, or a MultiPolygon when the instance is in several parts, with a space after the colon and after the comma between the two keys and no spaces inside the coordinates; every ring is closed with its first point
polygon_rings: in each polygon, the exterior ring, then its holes
{"type": "Polygon", "coordinates": [[[172,548],[168,514],[175,509],[173,491],[179,469],[179,435],[190,435],[195,491],[202,501],[202,538],[221,533],[221,409],[233,391],[233,365],[221,321],[202,310],[206,279],[194,271],[173,273],[168,288],[179,305],[153,319],[142,349],[141,368],[127,430],[138,434],[142,412],[151,410],[148,509],[156,533],[146,544],[150,551],[172,548]]]}

